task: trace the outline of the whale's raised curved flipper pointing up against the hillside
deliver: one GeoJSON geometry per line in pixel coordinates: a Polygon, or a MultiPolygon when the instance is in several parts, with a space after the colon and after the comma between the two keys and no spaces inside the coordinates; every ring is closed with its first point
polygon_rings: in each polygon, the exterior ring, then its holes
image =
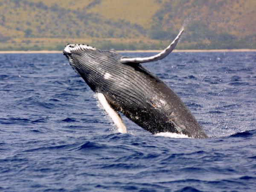
{"type": "Polygon", "coordinates": [[[158,61],[160,59],[165,58],[167,55],[169,55],[169,53],[172,52],[172,50],[175,48],[175,46],[177,45],[180,36],[182,35],[182,33],[184,32],[184,29],[182,28],[179,32],[179,34],[177,35],[177,37],[175,38],[174,41],[172,41],[172,43],[166,48],[164,49],[162,52],[158,53],[157,55],[151,56],[151,57],[144,57],[144,58],[140,58],[140,57],[136,57],[136,58],[121,58],[120,62],[125,64],[125,63],[145,63],[145,62],[151,62],[151,61],[158,61]]]}

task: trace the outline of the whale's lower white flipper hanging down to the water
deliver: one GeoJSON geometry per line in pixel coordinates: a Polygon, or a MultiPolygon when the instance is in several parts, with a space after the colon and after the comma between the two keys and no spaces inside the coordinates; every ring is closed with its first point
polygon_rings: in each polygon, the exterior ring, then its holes
{"type": "Polygon", "coordinates": [[[113,108],[108,104],[105,96],[102,93],[96,93],[96,97],[99,100],[99,103],[102,105],[103,109],[108,113],[110,118],[113,120],[114,124],[117,127],[119,133],[127,133],[126,127],[122,121],[121,116],[113,110],[113,108]]]}

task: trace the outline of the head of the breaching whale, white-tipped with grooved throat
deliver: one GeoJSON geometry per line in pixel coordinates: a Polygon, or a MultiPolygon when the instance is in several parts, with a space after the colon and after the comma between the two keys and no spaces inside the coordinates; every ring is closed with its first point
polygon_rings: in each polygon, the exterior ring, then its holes
{"type": "Polygon", "coordinates": [[[115,51],[102,50],[85,44],[68,44],[64,50],[72,68],[95,91],[105,81],[106,74],[119,66],[122,57],[115,51]]]}

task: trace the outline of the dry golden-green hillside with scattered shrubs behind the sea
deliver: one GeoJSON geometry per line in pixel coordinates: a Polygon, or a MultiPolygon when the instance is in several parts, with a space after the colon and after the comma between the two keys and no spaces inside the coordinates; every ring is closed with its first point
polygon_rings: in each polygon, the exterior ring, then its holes
{"type": "Polygon", "coordinates": [[[0,0],[0,50],[256,48],[255,0],[0,0]]]}

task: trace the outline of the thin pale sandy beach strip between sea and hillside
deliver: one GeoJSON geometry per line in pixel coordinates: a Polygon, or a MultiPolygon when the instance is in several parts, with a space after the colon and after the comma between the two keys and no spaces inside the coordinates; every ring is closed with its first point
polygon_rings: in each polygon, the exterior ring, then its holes
{"type": "MultiPolygon", "coordinates": [[[[161,52],[162,50],[123,50],[116,52],[161,52]]],[[[256,52],[256,49],[175,49],[173,52],[256,52]]],[[[0,51],[0,54],[62,53],[62,51],[0,51]]]]}

